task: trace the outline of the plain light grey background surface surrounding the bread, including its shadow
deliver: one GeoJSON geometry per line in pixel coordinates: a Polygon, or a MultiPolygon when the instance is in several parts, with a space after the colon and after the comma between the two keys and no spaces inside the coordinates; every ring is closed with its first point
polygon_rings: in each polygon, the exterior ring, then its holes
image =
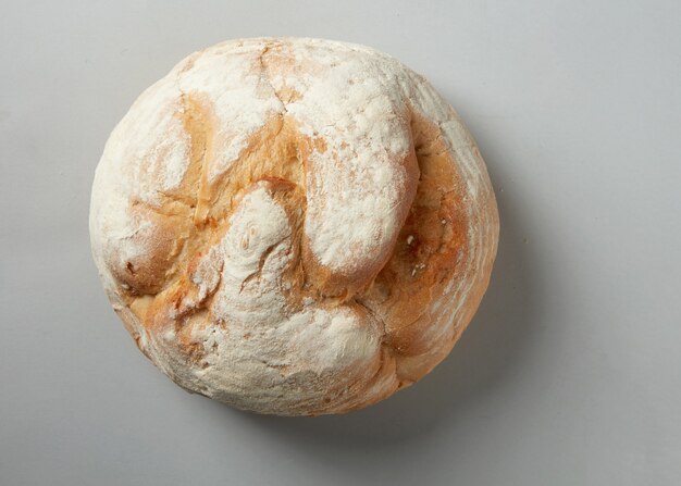
{"type": "Polygon", "coordinates": [[[3,1],[1,485],[681,484],[681,7],[671,1],[3,1]],[[95,166],[179,59],[257,35],[367,43],[478,139],[502,239],[431,375],[346,416],[190,396],[89,254],[95,166]]]}

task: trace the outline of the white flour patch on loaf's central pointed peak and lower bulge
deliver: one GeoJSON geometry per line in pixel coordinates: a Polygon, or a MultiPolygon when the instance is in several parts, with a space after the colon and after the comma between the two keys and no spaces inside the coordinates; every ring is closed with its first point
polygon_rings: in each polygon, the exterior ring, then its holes
{"type": "MultiPolygon", "coordinates": [[[[290,262],[292,230],[267,183],[246,194],[228,224],[191,274],[198,300],[214,292],[209,311],[228,327],[215,322],[193,329],[206,365],[184,378],[187,386],[230,402],[243,400],[240,391],[246,387],[256,390],[248,398],[249,407],[261,401],[259,406],[267,408],[292,383],[294,401],[318,394],[313,381],[298,377],[333,373],[347,382],[359,379],[375,360],[380,329],[347,306],[326,310],[312,304],[287,312],[281,278],[290,262]]],[[[163,338],[172,341],[174,336],[163,338]]],[[[152,352],[161,357],[169,346],[172,342],[157,345],[165,350],[152,352]]],[[[181,359],[175,356],[170,361],[181,359]]]]}

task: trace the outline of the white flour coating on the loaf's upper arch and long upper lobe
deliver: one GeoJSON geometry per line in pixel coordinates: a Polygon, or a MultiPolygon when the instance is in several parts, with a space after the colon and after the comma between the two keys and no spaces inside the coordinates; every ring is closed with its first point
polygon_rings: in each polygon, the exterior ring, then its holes
{"type": "MultiPolygon", "coordinates": [[[[161,189],[176,187],[188,165],[190,139],[173,113],[184,110],[183,94],[200,94],[218,119],[207,172],[213,182],[238,159],[257,129],[286,111],[304,134],[327,145],[325,151],[311,153],[306,175],[305,232],[312,252],[322,265],[352,274],[394,242],[399,205],[408,202],[405,169],[394,161],[403,160],[411,144],[401,92],[409,73],[397,61],[369,49],[337,43],[337,50],[330,51],[323,45],[294,41],[297,61],[320,70],[314,75],[268,79],[261,62],[267,46],[262,40],[228,42],[177,64],[135,107],[149,105],[166,116],[141,117],[125,135],[112,137],[133,137],[122,146],[136,148],[138,157],[116,151],[110,157],[140,163],[145,154],[162,152],[165,157],[156,158],[158,163],[141,166],[165,182],[161,189]],[[366,55],[358,57],[358,50],[366,55]],[[275,92],[285,86],[295,86],[300,95],[286,107],[275,92]],[[330,99],[337,101],[330,103],[330,99]],[[345,211],[337,211],[339,207],[345,211]]],[[[139,199],[158,202],[153,190],[136,190],[137,179],[126,183],[139,199]]]]}

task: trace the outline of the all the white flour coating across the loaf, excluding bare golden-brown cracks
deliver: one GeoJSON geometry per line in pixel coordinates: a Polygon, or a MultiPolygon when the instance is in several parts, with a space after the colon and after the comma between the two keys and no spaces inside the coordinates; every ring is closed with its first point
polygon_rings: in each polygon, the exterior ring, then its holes
{"type": "MultiPolygon", "coordinates": [[[[392,358],[385,358],[383,325],[355,303],[329,304],[309,296],[288,301],[289,294],[300,291],[284,281],[296,264],[293,234],[270,183],[243,195],[221,226],[224,235],[203,249],[188,275],[187,285],[195,287],[183,303],[208,306],[189,327],[200,365],[187,363],[178,347],[173,325],[187,324],[174,321],[179,319],[175,308],[158,311],[174,324],[154,335],[125,306],[110,269],[156,251],[156,223],[133,205],[159,208],[181,191],[191,145],[178,116],[186,95],[206,101],[214,119],[205,167],[209,183],[238,161],[273,116],[290,117],[302,135],[323,141],[312,144],[306,166],[304,230],[320,264],[350,276],[389,250],[400,230],[400,208],[411,204],[405,187],[414,174],[399,162],[412,149],[411,113],[439,127],[465,182],[470,261],[423,309],[422,315],[430,312],[433,319],[420,338],[433,346],[455,335],[470,311],[471,290],[479,288],[475,272],[496,250],[496,241],[490,242],[495,213],[481,208],[492,194],[486,171],[454,110],[419,75],[364,47],[313,39],[224,42],[181,62],[143,94],[114,129],[95,178],[92,252],[108,295],[139,333],[141,348],[177,383],[271,413],[344,410],[344,400],[356,399],[331,397],[324,409],[324,390],[367,386],[369,398],[392,392],[398,376],[392,358]],[[305,68],[269,75],[265,61],[277,48],[305,68]],[[287,88],[296,96],[284,103],[280,95],[287,88]]],[[[407,244],[413,241],[409,235],[407,244]]],[[[414,266],[412,276],[419,278],[423,267],[414,266]]]]}

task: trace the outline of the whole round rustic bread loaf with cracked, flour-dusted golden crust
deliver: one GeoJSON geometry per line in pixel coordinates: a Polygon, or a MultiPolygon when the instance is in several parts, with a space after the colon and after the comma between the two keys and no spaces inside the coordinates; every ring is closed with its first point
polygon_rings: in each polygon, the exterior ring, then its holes
{"type": "Polygon", "coordinates": [[[92,253],[139,349],[244,410],[343,413],[450,351],[498,215],[451,107],[375,50],[242,39],[148,88],[97,167],[92,253]]]}

